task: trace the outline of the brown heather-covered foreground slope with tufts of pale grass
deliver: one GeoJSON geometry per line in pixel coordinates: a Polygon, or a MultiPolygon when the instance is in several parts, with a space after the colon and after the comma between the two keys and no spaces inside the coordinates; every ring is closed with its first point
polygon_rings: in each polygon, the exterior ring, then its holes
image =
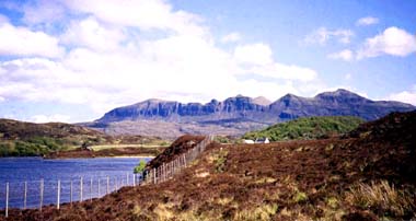
{"type": "MultiPolygon", "coordinates": [[[[345,138],[212,144],[173,179],[14,220],[414,220],[416,112],[345,138]],[[358,136],[357,136],[358,135],[358,136]]],[[[0,218],[1,219],[1,218],[0,218]]]]}

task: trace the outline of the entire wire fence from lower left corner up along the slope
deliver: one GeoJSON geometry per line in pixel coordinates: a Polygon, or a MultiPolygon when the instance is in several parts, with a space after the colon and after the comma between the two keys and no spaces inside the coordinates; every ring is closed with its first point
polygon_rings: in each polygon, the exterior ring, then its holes
{"type": "Polygon", "coordinates": [[[43,206],[72,203],[92,200],[125,186],[159,184],[172,178],[182,168],[194,161],[213,140],[206,137],[193,149],[177,155],[174,160],[159,167],[143,171],[141,174],[126,173],[116,176],[79,176],[70,179],[39,179],[28,182],[11,182],[0,185],[0,209],[8,217],[10,208],[39,209],[43,206]],[[3,200],[4,199],[4,200],[3,200]]]}

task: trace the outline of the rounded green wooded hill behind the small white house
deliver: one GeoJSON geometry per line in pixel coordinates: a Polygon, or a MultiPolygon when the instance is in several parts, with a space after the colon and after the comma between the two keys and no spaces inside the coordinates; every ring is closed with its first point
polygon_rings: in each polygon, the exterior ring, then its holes
{"type": "Polygon", "coordinates": [[[276,124],[264,130],[247,132],[243,138],[254,140],[267,137],[270,141],[328,138],[349,132],[361,123],[363,123],[361,118],[348,116],[305,117],[276,124]]]}

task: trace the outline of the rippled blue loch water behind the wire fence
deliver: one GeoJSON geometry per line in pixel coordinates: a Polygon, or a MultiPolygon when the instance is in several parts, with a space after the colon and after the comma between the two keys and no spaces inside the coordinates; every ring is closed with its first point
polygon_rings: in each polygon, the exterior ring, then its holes
{"type": "Polygon", "coordinates": [[[136,184],[139,177],[132,174],[132,170],[140,160],[148,162],[151,159],[2,158],[0,159],[0,208],[5,208],[7,198],[9,198],[9,208],[24,208],[25,205],[26,208],[37,208],[41,205],[56,205],[58,194],[60,203],[102,197],[123,186],[136,184]],[[9,197],[7,197],[7,183],[9,183],[9,197]]]}

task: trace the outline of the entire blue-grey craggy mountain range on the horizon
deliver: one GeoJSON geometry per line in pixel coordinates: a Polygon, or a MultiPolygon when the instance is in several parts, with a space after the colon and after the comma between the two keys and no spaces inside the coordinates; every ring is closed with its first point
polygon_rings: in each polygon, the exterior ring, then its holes
{"type": "Polygon", "coordinates": [[[238,95],[209,103],[147,100],[117,107],[102,118],[82,124],[111,135],[177,137],[183,133],[239,136],[276,123],[310,116],[356,116],[373,120],[391,112],[416,107],[401,102],[371,101],[339,89],[314,97],[287,94],[275,102],[238,95]]]}

